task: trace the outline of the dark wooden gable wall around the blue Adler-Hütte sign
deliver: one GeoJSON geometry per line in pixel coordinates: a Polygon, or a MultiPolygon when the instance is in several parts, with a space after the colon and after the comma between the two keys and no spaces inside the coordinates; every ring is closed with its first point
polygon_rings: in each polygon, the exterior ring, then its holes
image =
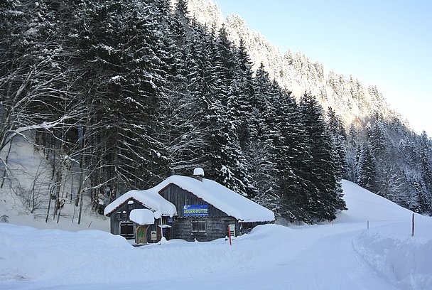
{"type": "Polygon", "coordinates": [[[235,225],[236,236],[240,234],[240,225],[236,218],[227,215],[227,213],[215,208],[210,203],[202,200],[202,198],[198,198],[188,190],[171,183],[159,193],[177,208],[178,216],[175,217],[171,229],[173,238],[186,241],[198,240],[200,242],[216,240],[227,237],[229,225],[235,225]],[[204,217],[185,216],[183,215],[184,205],[207,205],[208,215],[204,217]],[[194,222],[202,222],[204,229],[201,227],[200,230],[193,230],[194,222]]]}

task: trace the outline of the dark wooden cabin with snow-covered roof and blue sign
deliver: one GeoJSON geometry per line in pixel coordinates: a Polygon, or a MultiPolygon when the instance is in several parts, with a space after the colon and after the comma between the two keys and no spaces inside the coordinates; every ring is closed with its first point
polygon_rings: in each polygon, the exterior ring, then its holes
{"type": "MultiPolygon", "coordinates": [[[[210,241],[227,237],[228,230],[237,236],[256,225],[274,222],[271,210],[203,175],[202,169],[196,168],[193,177],[171,176],[151,189],[121,195],[105,208],[104,214],[111,217],[111,232],[133,238],[131,228],[127,235],[121,229],[127,222],[132,227],[129,215],[136,208],[147,208],[155,215],[155,224],[147,232],[156,231],[157,240],[161,239],[161,229],[167,240],[210,241]]],[[[138,226],[133,224],[134,235],[138,226]]],[[[155,242],[151,233],[147,240],[155,242]]]]}

